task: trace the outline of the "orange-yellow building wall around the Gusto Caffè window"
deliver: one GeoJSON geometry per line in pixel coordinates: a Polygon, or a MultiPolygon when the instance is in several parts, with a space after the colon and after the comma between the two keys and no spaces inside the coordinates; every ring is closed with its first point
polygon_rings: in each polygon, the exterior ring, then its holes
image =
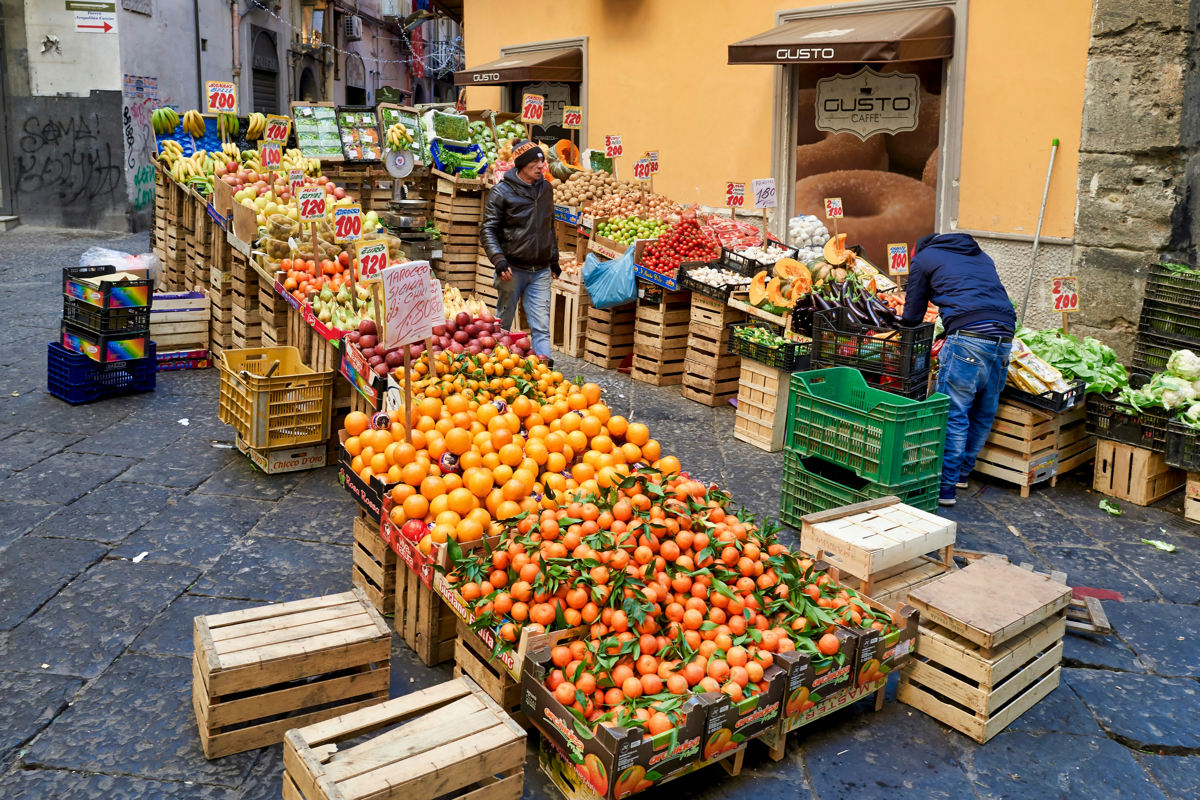
{"type": "MultiPolygon", "coordinates": [[[[464,0],[467,68],[503,46],[589,37],[586,146],[620,134],[624,176],[658,150],[655,191],[721,205],[726,181],[770,176],[774,85],[774,67],[730,65],[727,48],[773,28],[776,11],[817,5],[826,4],[464,0]]],[[[1087,0],[971,4],[959,228],[1032,234],[1058,137],[1043,233],[1073,235],[1090,22],[1087,0]]],[[[499,102],[499,88],[467,89],[468,108],[499,102]]]]}

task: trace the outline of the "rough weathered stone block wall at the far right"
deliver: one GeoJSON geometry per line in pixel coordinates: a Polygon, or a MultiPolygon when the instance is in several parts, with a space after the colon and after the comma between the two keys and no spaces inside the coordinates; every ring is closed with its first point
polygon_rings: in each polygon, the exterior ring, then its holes
{"type": "Polygon", "coordinates": [[[1079,152],[1075,327],[1129,362],[1147,265],[1196,255],[1198,0],[1094,0],[1079,152]]]}

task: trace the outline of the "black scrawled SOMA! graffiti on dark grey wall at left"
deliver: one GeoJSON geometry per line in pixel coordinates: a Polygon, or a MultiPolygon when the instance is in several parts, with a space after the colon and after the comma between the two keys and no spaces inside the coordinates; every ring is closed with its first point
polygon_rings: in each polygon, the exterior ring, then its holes
{"type": "Polygon", "coordinates": [[[89,203],[120,187],[121,158],[101,138],[101,115],[32,114],[19,127],[17,192],[60,205],[89,203]]]}

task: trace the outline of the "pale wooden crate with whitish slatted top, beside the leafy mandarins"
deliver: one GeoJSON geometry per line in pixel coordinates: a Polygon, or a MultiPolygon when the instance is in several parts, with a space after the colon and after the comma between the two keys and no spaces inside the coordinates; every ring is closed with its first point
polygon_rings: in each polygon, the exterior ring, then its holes
{"type": "Polygon", "coordinates": [[[800,549],[823,552],[840,572],[859,578],[858,590],[869,597],[875,597],[876,582],[907,571],[898,567],[926,553],[938,552],[946,570],[954,565],[956,524],[895,497],[818,511],[800,521],[800,549]]]}

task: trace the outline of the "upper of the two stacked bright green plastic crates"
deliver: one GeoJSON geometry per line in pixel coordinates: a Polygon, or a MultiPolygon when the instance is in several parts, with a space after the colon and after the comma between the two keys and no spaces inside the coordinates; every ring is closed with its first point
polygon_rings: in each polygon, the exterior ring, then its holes
{"type": "Polygon", "coordinates": [[[946,395],[914,401],[882,391],[851,367],[797,372],[784,446],[881,483],[938,476],[949,405],[946,395]]]}

